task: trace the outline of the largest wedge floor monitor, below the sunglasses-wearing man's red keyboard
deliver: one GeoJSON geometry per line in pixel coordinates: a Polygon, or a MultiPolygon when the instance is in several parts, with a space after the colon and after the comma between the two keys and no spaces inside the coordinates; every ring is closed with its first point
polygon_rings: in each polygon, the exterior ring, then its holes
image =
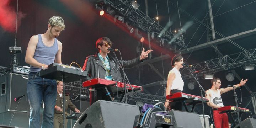
{"type": "Polygon", "coordinates": [[[139,107],[98,100],[80,116],[73,128],[133,128],[139,107]]]}

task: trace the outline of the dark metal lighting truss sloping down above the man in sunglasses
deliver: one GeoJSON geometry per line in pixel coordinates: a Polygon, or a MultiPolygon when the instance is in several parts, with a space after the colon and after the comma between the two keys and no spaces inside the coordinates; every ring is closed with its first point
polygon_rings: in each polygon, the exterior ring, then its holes
{"type": "MultiPolygon", "coordinates": [[[[184,48],[185,50],[188,50],[186,45],[184,44],[184,41],[179,39],[182,36],[179,38],[174,37],[173,32],[164,29],[164,27],[159,25],[159,23],[157,23],[154,18],[151,18],[139,9],[135,9],[134,7],[132,7],[131,1],[132,0],[105,0],[102,6],[111,6],[116,11],[116,14],[123,15],[125,17],[125,20],[128,20],[132,26],[139,28],[144,32],[164,32],[161,33],[161,37],[165,40],[168,40],[167,42],[172,39],[175,40],[174,43],[167,44],[166,46],[176,45],[184,48]]],[[[164,45],[162,44],[161,46],[164,45]]]]}

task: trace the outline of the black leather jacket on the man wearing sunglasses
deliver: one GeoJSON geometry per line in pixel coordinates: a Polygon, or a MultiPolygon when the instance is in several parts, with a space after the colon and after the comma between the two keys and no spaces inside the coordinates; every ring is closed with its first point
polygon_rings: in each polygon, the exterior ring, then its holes
{"type": "MultiPolygon", "coordinates": [[[[118,61],[122,64],[121,60],[117,60],[116,57],[112,57],[108,54],[109,57],[109,63],[110,63],[110,74],[114,81],[122,82],[122,77],[120,73],[120,68],[118,66],[118,61]]],[[[132,60],[123,60],[123,66],[124,68],[130,68],[133,67],[142,61],[138,58],[132,59],[132,60]]],[[[87,71],[88,77],[84,80],[90,80],[94,78],[102,78],[105,79],[106,76],[106,70],[103,66],[102,61],[98,57],[98,52],[95,55],[90,55],[86,58],[83,70],[87,71]]]]}

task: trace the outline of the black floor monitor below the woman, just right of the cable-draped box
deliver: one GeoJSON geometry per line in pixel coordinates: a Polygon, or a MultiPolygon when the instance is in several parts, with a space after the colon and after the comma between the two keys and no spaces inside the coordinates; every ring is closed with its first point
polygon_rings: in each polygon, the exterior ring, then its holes
{"type": "Polygon", "coordinates": [[[203,128],[198,113],[170,110],[174,117],[175,126],[181,128],[203,128]]]}

